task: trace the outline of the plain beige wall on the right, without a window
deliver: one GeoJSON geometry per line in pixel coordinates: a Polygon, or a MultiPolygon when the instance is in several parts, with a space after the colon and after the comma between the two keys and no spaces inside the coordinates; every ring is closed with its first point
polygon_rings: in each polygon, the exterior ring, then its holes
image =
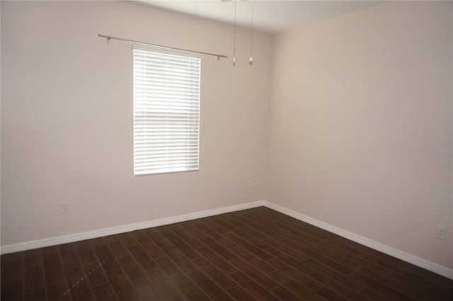
{"type": "Polygon", "coordinates": [[[273,46],[265,199],[453,268],[452,2],[382,4],[273,46]]]}

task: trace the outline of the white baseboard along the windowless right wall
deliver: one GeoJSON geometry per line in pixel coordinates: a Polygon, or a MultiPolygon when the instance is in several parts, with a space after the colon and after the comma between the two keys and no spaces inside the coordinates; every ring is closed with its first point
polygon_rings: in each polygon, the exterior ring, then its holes
{"type": "Polygon", "coordinates": [[[352,242],[357,242],[364,246],[368,246],[369,248],[380,251],[384,254],[393,256],[397,259],[401,259],[408,263],[412,263],[415,266],[420,266],[420,268],[425,268],[428,271],[432,271],[434,273],[440,274],[447,278],[453,279],[453,269],[452,268],[440,266],[440,264],[433,263],[432,261],[428,261],[426,259],[421,259],[420,257],[414,256],[412,254],[408,254],[408,253],[400,251],[398,249],[394,249],[391,246],[386,246],[385,244],[381,244],[379,242],[374,242],[373,240],[367,239],[366,237],[361,237],[360,235],[346,231],[345,229],[340,229],[333,225],[329,225],[326,222],[321,222],[320,220],[315,220],[314,218],[308,217],[306,215],[302,215],[299,212],[289,210],[282,206],[275,205],[275,204],[267,202],[267,201],[264,202],[264,205],[267,208],[281,212],[285,215],[289,215],[290,217],[294,217],[297,220],[302,220],[302,222],[306,222],[310,225],[314,225],[314,226],[324,229],[328,232],[332,232],[334,234],[339,235],[340,237],[345,237],[347,239],[350,239],[350,240],[352,240],[352,242]]]}

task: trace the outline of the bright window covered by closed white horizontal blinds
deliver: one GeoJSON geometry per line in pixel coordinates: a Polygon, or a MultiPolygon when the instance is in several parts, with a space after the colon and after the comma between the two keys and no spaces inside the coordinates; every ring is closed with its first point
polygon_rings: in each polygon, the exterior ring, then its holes
{"type": "Polygon", "coordinates": [[[134,175],[198,170],[201,57],[134,44],[134,175]]]}

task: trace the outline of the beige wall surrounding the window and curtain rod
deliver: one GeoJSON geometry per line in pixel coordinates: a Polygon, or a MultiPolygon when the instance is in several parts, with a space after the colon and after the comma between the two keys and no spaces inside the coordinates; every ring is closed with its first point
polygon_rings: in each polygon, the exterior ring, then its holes
{"type": "Polygon", "coordinates": [[[231,27],[124,2],[1,1],[1,30],[1,245],[263,200],[267,35],[232,67],[231,27]],[[133,176],[131,45],[98,33],[230,56],[202,61],[200,171],[133,176]]]}

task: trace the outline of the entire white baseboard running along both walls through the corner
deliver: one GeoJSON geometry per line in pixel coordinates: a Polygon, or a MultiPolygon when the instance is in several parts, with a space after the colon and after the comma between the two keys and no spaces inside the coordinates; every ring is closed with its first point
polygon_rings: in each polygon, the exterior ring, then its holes
{"type": "Polygon", "coordinates": [[[314,225],[321,229],[325,229],[328,232],[337,234],[340,237],[345,237],[347,239],[352,240],[353,242],[357,242],[364,246],[368,246],[369,248],[375,249],[377,251],[381,251],[384,254],[394,256],[397,259],[401,259],[408,263],[412,263],[415,266],[420,266],[420,268],[425,268],[428,271],[432,271],[434,273],[440,274],[447,278],[453,279],[453,269],[452,268],[440,266],[439,264],[433,263],[432,261],[427,261],[425,259],[421,259],[420,257],[413,256],[413,255],[408,254],[403,251],[399,251],[398,249],[394,249],[390,246],[386,246],[385,244],[380,244],[379,242],[374,242],[371,239],[361,237],[360,235],[354,234],[352,232],[348,232],[344,229],[340,229],[333,225],[329,225],[326,222],[321,222],[320,220],[316,220],[316,219],[308,217],[306,215],[302,215],[299,212],[289,210],[280,205],[275,205],[275,204],[267,202],[265,200],[259,200],[256,202],[244,203],[244,204],[240,204],[240,205],[233,205],[233,206],[218,208],[218,209],[214,209],[214,210],[205,210],[205,211],[201,211],[201,212],[194,212],[194,213],[189,213],[186,215],[178,215],[175,217],[165,217],[165,218],[161,218],[158,220],[151,220],[151,221],[147,221],[147,222],[137,222],[137,223],[130,224],[130,225],[122,225],[122,226],[118,226],[118,227],[110,227],[110,228],[98,229],[98,230],[94,230],[94,231],[69,234],[69,235],[64,235],[61,237],[38,239],[38,240],[35,240],[32,242],[23,242],[20,244],[9,244],[6,246],[1,246],[0,253],[8,254],[8,253],[13,253],[13,252],[18,252],[18,251],[26,251],[26,250],[30,250],[30,249],[42,248],[45,246],[55,246],[57,244],[78,242],[78,241],[81,241],[84,239],[92,239],[92,238],[96,238],[96,237],[104,237],[104,236],[108,236],[108,235],[120,234],[120,233],[130,232],[130,231],[139,230],[139,229],[147,229],[150,227],[159,227],[159,226],[163,226],[163,225],[170,225],[170,224],[173,224],[176,222],[185,222],[187,220],[195,220],[197,218],[209,217],[209,216],[213,216],[213,215],[220,215],[223,213],[245,210],[245,209],[250,209],[250,208],[256,208],[256,207],[260,207],[260,206],[265,206],[267,208],[281,212],[285,215],[289,215],[290,217],[294,217],[297,220],[302,220],[302,222],[306,222],[310,225],[314,225]]]}

